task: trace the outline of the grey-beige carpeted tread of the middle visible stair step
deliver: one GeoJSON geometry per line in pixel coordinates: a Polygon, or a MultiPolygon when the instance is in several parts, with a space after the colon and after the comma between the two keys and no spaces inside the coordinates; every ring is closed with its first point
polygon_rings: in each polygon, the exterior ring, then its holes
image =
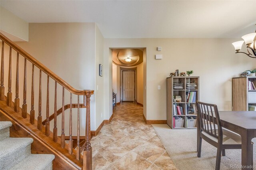
{"type": "Polygon", "coordinates": [[[6,138],[0,141],[0,160],[10,153],[15,153],[33,142],[32,138],[6,138]]]}

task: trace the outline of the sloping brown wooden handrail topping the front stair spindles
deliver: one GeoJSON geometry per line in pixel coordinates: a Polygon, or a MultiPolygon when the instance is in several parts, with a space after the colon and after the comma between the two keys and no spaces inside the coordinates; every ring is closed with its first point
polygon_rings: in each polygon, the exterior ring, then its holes
{"type": "Polygon", "coordinates": [[[94,90],[77,90],[74,89],[71,85],[69,85],[66,81],[64,81],[62,78],[60,78],[58,75],[53,73],[50,69],[48,69],[45,65],[40,63],[37,59],[32,57],[29,53],[24,51],[20,46],[18,46],[16,43],[12,42],[9,38],[4,36],[4,34],[0,33],[0,39],[4,41],[6,44],[8,44],[12,49],[20,53],[23,57],[28,59],[31,63],[33,63],[36,67],[41,69],[44,73],[49,75],[52,79],[57,81],[60,85],[65,87],[68,91],[70,91],[73,94],[76,95],[92,95],[94,94],[94,90]]]}

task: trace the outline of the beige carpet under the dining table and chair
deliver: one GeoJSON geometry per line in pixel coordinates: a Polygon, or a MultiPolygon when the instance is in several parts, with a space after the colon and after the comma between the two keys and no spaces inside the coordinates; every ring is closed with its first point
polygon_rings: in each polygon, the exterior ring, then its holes
{"type": "MultiPolygon", "coordinates": [[[[196,129],[171,129],[168,125],[152,125],[178,170],[214,170],[217,148],[202,140],[201,158],[196,152],[196,129]]],[[[256,138],[254,166],[256,166],[256,138]]],[[[221,170],[241,165],[241,150],[226,150],[221,158],[221,170]]],[[[254,168],[256,169],[256,168],[254,168]]]]}

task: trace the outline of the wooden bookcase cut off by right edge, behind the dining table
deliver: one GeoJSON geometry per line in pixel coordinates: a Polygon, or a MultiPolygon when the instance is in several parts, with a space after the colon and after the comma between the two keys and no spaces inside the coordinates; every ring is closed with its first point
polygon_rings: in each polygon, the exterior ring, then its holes
{"type": "Polygon", "coordinates": [[[232,111],[248,111],[248,105],[256,105],[256,90],[248,88],[249,82],[256,85],[256,77],[232,78],[232,111]]]}

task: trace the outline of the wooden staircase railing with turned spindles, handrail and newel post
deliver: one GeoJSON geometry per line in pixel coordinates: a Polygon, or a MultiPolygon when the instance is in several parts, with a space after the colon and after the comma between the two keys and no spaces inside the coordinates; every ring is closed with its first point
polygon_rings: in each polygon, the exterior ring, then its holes
{"type": "MultiPolygon", "coordinates": [[[[83,170],[92,169],[92,147],[90,144],[90,97],[94,93],[93,90],[76,90],[71,87],[68,83],[66,83],[63,79],[54,74],[50,69],[45,67],[42,63],[37,61],[34,57],[16,45],[14,42],[9,40],[6,36],[0,33],[0,39],[2,40],[2,56],[1,56],[1,75],[0,75],[0,100],[6,100],[6,105],[8,107],[12,107],[16,113],[20,111],[20,98],[19,98],[19,83],[21,76],[19,75],[19,57],[20,55],[24,57],[24,77],[23,80],[23,104],[22,104],[22,117],[23,119],[27,118],[27,61],[32,64],[32,79],[31,79],[31,107],[30,107],[30,124],[35,123],[35,105],[34,105],[34,94],[35,94],[35,66],[39,69],[39,89],[38,89],[38,117],[37,117],[37,128],[38,130],[42,130],[42,126],[45,126],[45,135],[49,136],[50,131],[53,132],[52,140],[57,142],[58,139],[58,128],[57,128],[57,116],[62,114],[61,119],[61,148],[66,148],[65,145],[65,110],[70,109],[69,113],[69,143],[68,143],[68,152],[69,154],[73,154],[73,146],[72,146],[72,109],[77,108],[77,127],[76,127],[76,138],[77,138],[77,147],[76,147],[76,159],[80,160],[81,153],[83,152],[83,170]],[[7,45],[7,47],[5,46],[7,45]],[[6,49],[8,50],[9,46],[9,63],[8,63],[8,93],[7,97],[5,97],[5,87],[4,87],[4,54],[6,53],[6,49]],[[15,99],[14,104],[12,104],[12,52],[17,53],[16,57],[16,85],[15,85],[15,99]],[[47,75],[47,90],[46,90],[46,120],[42,121],[42,72],[47,75]],[[53,79],[55,82],[54,88],[54,113],[49,115],[50,113],[50,95],[49,95],[49,81],[53,79]],[[62,107],[57,110],[57,85],[62,87],[62,107]],[[70,92],[70,104],[65,105],[64,91],[65,89],[70,92]],[[72,95],[77,95],[78,103],[80,100],[80,96],[83,96],[83,104],[72,104],[72,95]],[[80,108],[86,108],[86,125],[85,125],[85,142],[83,146],[80,146],[80,108]],[[54,119],[54,127],[50,129],[50,121],[54,119]]],[[[29,83],[30,85],[30,83],[29,83]]],[[[1,108],[1,107],[0,107],[1,108]]]]}

